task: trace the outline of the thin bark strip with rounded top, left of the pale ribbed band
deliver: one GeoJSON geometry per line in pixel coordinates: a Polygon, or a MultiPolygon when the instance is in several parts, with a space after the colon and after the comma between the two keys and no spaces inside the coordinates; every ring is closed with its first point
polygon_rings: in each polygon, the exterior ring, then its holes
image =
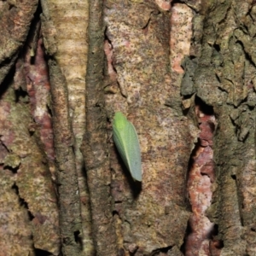
{"type": "Polygon", "coordinates": [[[62,253],[77,256],[80,253],[75,234],[81,233],[78,178],[73,154],[73,133],[68,115],[67,84],[60,67],[49,60],[53,129],[60,207],[62,253]]]}

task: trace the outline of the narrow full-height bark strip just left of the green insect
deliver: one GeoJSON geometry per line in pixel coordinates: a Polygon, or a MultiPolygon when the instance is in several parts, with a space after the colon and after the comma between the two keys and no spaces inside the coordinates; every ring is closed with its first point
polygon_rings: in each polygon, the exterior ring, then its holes
{"type": "Polygon", "coordinates": [[[117,255],[110,196],[110,168],[103,93],[102,1],[90,1],[86,73],[86,132],[81,147],[90,191],[96,255],[117,255]]]}

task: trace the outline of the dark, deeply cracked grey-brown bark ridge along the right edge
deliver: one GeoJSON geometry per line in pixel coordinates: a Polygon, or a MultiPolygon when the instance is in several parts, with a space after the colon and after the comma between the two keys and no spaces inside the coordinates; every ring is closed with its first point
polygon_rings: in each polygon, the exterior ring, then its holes
{"type": "Polygon", "coordinates": [[[213,107],[218,121],[213,139],[217,179],[207,210],[218,225],[217,245],[223,247],[216,255],[255,255],[256,250],[255,8],[253,1],[202,5],[186,62],[192,71],[189,91],[213,107]]]}

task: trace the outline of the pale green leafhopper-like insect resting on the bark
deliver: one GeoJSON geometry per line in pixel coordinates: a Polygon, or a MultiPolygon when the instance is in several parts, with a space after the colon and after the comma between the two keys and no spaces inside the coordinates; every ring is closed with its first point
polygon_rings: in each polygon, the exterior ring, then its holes
{"type": "Polygon", "coordinates": [[[137,132],[121,112],[116,112],[113,117],[113,141],[131,177],[141,182],[142,160],[137,132]]]}

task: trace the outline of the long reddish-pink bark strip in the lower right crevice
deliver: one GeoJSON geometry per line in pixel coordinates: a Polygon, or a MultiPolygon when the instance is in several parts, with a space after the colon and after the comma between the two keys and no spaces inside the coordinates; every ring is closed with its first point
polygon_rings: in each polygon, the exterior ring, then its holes
{"type": "Polygon", "coordinates": [[[188,191],[193,214],[189,218],[191,233],[186,241],[186,256],[212,255],[212,250],[218,251],[214,247],[217,242],[213,240],[214,224],[206,216],[207,208],[211,206],[214,180],[212,139],[215,117],[213,112],[203,113],[200,106],[196,106],[195,113],[201,133],[189,170],[188,191]]]}

